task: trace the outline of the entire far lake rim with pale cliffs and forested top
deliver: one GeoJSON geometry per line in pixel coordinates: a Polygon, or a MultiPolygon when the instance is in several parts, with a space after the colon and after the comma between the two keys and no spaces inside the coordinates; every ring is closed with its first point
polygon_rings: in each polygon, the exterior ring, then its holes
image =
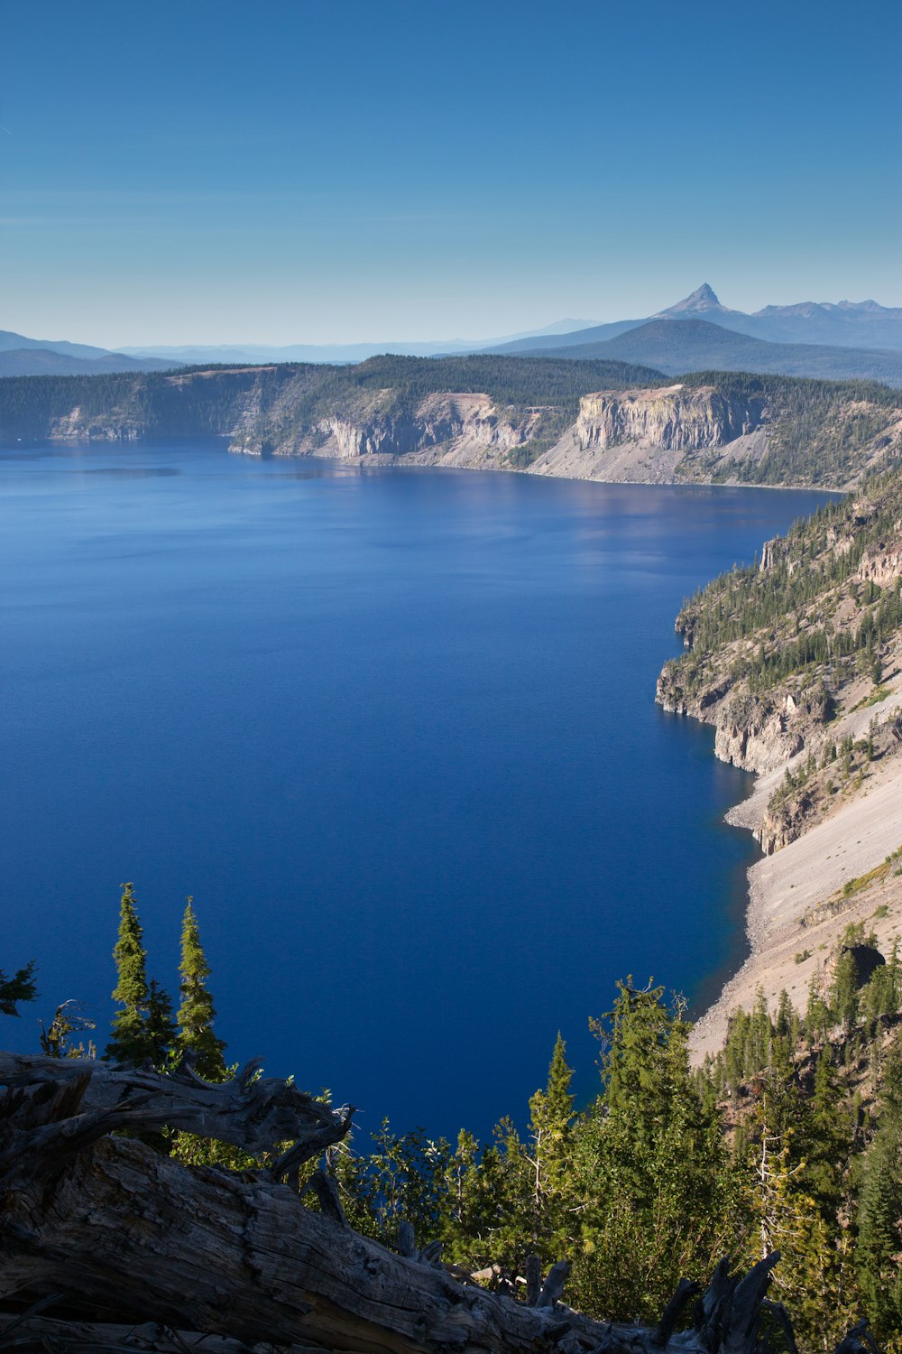
{"type": "Polygon", "coordinates": [[[902,399],[852,382],[709,372],[664,385],[623,363],[503,356],[0,380],[0,437],[210,435],[252,455],[838,487],[899,455],[902,399]]]}

